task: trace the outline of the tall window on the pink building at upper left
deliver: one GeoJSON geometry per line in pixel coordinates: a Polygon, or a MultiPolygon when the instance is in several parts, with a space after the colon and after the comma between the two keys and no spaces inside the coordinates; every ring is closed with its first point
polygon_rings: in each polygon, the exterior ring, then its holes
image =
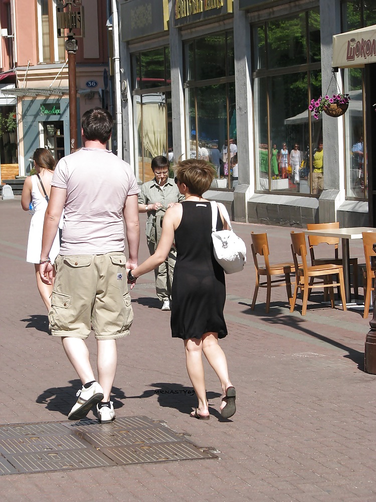
{"type": "Polygon", "coordinates": [[[63,38],[58,38],[56,0],[37,0],[38,59],[40,63],[65,61],[63,38]]]}

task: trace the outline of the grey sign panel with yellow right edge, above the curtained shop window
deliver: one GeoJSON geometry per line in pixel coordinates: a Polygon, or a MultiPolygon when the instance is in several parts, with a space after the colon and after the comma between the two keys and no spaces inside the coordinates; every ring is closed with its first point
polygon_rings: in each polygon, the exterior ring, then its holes
{"type": "Polygon", "coordinates": [[[127,0],[120,4],[121,40],[128,42],[168,30],[168,0],[127,0]]]}

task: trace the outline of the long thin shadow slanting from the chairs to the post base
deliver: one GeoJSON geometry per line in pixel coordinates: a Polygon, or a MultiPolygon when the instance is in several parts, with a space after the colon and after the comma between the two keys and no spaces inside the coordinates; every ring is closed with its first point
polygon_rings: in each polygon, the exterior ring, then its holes
{"type": "MultiPolygon", "coordinates": [[[[250,307],[247,303],[240,302],[239,304],[250,307]]],[[[275,306],[275,304],[274,304],[274,306],[275,306]]],[[[286,308],[285,304],[278,304],[278,306],[286,308]]],[[[256,305],[256,307],[257,307],[257,305],[256,305]]],[[[351,347],[348,347],[347,345],[343,345],[340,342],[332,340],[331,338],[328,338],[327,336],[320,335],[319,333],[315,333],[311,329],[308,329],[304,325],[304,323],[306,322],[304,317],[299,318],[299,317],[290,316],[290,315],[286,315],[286,314],[271,315],[270,317],[265,317],[267,315],[267,314],[265,314],[265,307],[263,307],[263,312],[257,312],[256,310],[251,310],[249,308],[247,310],[244,310],[243,313],[255,315],[255,316],[259,317],[261,321],[267,322],[269,324],[281,324],[284,327],[290,326],[291,328],[298,329],[302,333],[305,333],[309,336],[312,336],[312,337],[316,338],[317,340],[322,340],[326,343],[329,343],[333,347],[337,347],[337,348],[343,350],[344,352],[347,352],[347,354],[343,355],[343,357],[350,359],[355,364],[357,364],[358,369],[360,369],[360,371],[364,371],[364,352],[360,352],[359,350],[355,350],[351,347]]],[[[273,312],[271,312],[271,314],[273,314],[273,312]]],[[[365,336],[365,333],[364,333],[364,336],[365,336]]]]}

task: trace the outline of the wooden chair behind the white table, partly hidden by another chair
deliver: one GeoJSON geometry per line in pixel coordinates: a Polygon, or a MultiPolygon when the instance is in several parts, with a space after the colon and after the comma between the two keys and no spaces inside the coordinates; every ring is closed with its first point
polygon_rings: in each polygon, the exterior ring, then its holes
{"type": "MultiPolygon", "coordinates": [[[[339,221],[335,223],[307,223],[307,230],[322,230],[322,229],[336,229],[339,228],[339,221]]],[[[322,237],[319,235],[308,234],[309,253],[311,255],[311,265],[326,265],[332,263],[334,265],[343,265],[342,258],[338,258],[338,237],[322,237]],[[333,258],[316,258],[314,248],[320,244],[328,244],[334,250],[333,258]]],[[[322,247],[322,246],[321,246],[322,247]]],[[[352,284],[354,287],[354,297],[358,298],[358,259],[350,258],[350,265],[352,266],[352,284]]],[[[313,278],[311,279],[311,284],[313,278]]],[[[340,297],[339,287],[337,288],[338,298],[340,297]]]]}

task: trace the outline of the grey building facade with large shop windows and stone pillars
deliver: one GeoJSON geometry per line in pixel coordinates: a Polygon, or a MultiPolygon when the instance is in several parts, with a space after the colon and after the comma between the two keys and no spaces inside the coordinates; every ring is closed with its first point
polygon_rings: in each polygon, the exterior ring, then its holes
{"type": "Polygon", "coordinates": [[[332,40],[373,25],[376,1],[119,0],[118,12],[122,150],[140,183],[156,155],[202,158],[217,171],[207,196],[237,221],[369,224],[367,70],[333,72],[332,40]],[[338,92],[346,113],[314,118],[311,100],[338,92]]]}

